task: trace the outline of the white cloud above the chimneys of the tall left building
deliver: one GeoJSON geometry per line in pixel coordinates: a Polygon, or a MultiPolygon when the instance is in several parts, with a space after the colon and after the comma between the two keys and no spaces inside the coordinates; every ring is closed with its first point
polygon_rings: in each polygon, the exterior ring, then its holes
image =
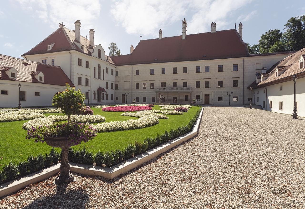
{"type": "Polygon", "coordinates": [[[17,0],[26,11],[34,17],[42,19],[52,28],[58,28],[58,23],[70,29],[74,21],[81,20],[83,29],[91,29],[93,21],[99,17],[101,5],[99,0],[17,0]]]}

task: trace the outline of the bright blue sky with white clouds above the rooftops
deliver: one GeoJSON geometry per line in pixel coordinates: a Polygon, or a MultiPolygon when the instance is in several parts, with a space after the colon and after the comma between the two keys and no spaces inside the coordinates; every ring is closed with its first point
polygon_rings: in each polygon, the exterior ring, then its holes
{"type": "Polygon", "coordinates": [[[108,54],[110,42],[122,54],[130,53],[142,39],[234,29],[242,22],[242,39],[257,44],[269,29],[284,32],[291,17],[305,14],[303,0],[5,0],[0,7],[0,54],[19,57],[58,28],[58,23],[75,30],[81,20],[81,35],[95,29],[95,45],[108,54]],[[276,3],[275,3],[276,2],[276,3]],[[300,6],[301,5],[301,6],[300,6]]]}

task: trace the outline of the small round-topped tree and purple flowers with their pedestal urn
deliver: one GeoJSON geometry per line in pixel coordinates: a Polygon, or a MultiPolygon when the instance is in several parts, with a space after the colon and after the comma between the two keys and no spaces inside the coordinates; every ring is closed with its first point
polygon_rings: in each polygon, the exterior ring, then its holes
{"type": "Polygon", "coordinates": [[[75,87],[70,87],[67,83],[66,87],[65,91],[54,95],[52,105],[61,108],[63,114],[68,116],[68,122],[32,127],[26,137],[35,139],[35,142],[46,142],[49,146],[61,148],[60,175],[53,181],[54,184],[70,183],[75,180],[70,173],[68,149],[81,142],[88,142],[96,136],[96,130],[90,125],[70,122],[71,115],[84,111],[84,94],[80,89],[75,91],[75,87]]]}

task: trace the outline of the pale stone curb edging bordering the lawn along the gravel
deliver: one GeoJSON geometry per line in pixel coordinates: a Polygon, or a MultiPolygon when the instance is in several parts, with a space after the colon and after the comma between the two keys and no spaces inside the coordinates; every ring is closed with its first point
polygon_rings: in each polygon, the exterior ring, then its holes
{"type": "MultiPolygon", "coordinates": [[[[163,152],[166,152],[167,150],[196,136],[198,133],[198,130],[199,130],[201,119],[202,119],[203,109],[204,108],[201,109],[199,116],[192,128],[192,131],[190,131],[184,135],[181,135],[175,139],[172,139],[162,145],[159,145],[153,149],[150,149],[147,152],[137,155],[131,159],[125,160],[110,168],[102,167],[102,166],[92,166],[92,165],[84,165],[84,164],[78,164],[78,163],[70,163],[70,171],[75,172],[75,173],[84,174],[84,175],[89,175],[89,176],[102,176],[107,179],[113,179],[122,173],[126,173],[126,172],[138,167],[139,165],[146,163],[149,160],[159,156],[163,152]]],[[[27,176],[20,177],[16,180],[1,184],[0,185],[0,198],[5,195],[16,192],[24,187],[27,187],[28,185],[30,185],[32,183],[37,183],[39,181],[48,179],[48,178],[56,175],[56,173],[59,172],[59,166],[60,166],[60,163],[50,166],[46,169],[37,171],[35,173],[31,173],[27,176]]]]}

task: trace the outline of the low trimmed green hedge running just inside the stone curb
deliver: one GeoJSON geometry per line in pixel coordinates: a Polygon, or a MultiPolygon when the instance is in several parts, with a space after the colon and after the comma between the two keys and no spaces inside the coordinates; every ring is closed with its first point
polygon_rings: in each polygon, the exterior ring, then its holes
{"type": "MultiPolygon", "coordinates": [[[[137,156],[149,149],[159,146],[165,142],[177,138],[187,132],[190,132],[200,114],[202,109],[196,112],[194,117],[189,121],[188,125],[178,127],[177,129],[171,129],[169,132],[165,131],[162,135],[157,135],[155,138],[147,138],[143,143],[135,142],[129,144],[125,149],[117,149],[115,151],[101,152],[98,151],[95,154],[86,151],[85,147],[80,149],[70,148],[68,152],[69,161],[72,163],[82,163],[87,165],[111,167],[124,160],[130,159],[137,156]]],[[[26,161],[20,162],[17,165],[10,162],[8,165],[3,167],[0,172],[0,184],[11,180],[14,180],[21,176],[26,176],[35,171],[41,170],[45,167],[51,166],[52,164],[58,163],[61,158],[61,153],[56,152],[54,148],[46,155],[39,154],[38,156],[29,156],[26,161]]]]}

